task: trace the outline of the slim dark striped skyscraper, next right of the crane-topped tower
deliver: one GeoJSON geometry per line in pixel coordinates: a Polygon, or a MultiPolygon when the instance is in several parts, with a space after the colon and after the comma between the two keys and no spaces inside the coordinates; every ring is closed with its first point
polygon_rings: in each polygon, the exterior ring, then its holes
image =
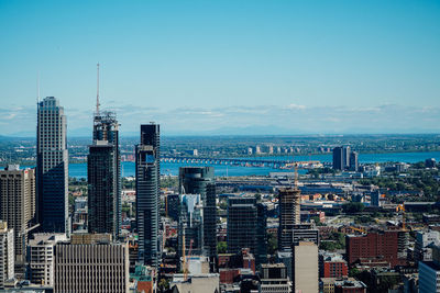
{"type": "Polygon", "coordinates": [[[158,264],[160,203],[160,125],[141,125],[141,143],[136,145],[136,222],[139,260],[158,264]]]}

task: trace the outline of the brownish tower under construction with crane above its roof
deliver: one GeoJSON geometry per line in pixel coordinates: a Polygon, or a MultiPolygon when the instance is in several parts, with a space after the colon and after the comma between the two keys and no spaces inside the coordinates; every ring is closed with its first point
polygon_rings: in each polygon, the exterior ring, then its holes
{"type": "Polygon", "coordinates": [[[278,249],[289,250],[292,230],[295,224],[300,224],[300,191],[297,188],[279,189],[278,191],[278,249]]]}

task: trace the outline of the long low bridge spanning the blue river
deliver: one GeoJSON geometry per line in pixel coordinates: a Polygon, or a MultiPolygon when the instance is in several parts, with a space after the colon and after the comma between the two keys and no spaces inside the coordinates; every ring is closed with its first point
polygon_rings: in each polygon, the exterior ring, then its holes
{"type": "Polygon", "coordinates": [[[162,156],[161,161],[173,164],[194,164],[194,165],[229,165],[241,167],[270,167],[273,169],[294,169],[295,165],[298,169],[319,168],[323,165],[319,160],[294,161],[277,159],[258,159],[258,158],[209,158],[209,157],[174,157],[162,156]]]}

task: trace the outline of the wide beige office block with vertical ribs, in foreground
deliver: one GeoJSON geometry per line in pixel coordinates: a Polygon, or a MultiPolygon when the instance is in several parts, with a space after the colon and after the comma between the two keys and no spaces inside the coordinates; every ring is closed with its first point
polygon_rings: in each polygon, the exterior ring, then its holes
{"type": "Polygon", "coordinates": [[[128,244],[110,243],[107,236],[81,236],[76,244],[56,244],[54,292],[128,293],[128,244]]]}

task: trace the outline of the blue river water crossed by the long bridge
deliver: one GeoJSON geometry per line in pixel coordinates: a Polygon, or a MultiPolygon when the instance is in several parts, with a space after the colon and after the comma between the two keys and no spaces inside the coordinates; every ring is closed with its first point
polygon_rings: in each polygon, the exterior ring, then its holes
{"type": "MultiPolygon", "coordinates": [[[[280,157],[257,157],[258,159],[292,159],[292,156],[280,157]]],[[[430,153],[391,153],[391,154],[360,154],[360,164],[367,162],[386,162],[386,161],[402,161],[402,162],[418,162],[425,161],[427,158],[435,158],[437,161],[440,160],[440,151],[430,153]]],[[[243,158],[244,159],[244,158],[243,158]]],[[[314,156],[295,156],[295,160],[319,160],[321,162],[331,162],[331,155],[314,155],[314,156]]],[[[163,174],[178,174],[178,168],[184,166],[202,166],[191,164],[174,164],[163,162],[161,164],[161,171],[163,174]]],[[[266,176],[270,172],[280,172],[289,170],[273,169],[270,167],[241,167],[241,166],[224,166],[215,165],[216,176],[266,176]]],[[[134,162],[124,161],[122,162],[122,176],[130,177],[134,176],[134,162]]],[[[302,171],[302,170],[301,170],[302,171]]],[[[87,178],[87,164],[70,164],[69,165],[69,177],[75,178],[87,178]]]]}

